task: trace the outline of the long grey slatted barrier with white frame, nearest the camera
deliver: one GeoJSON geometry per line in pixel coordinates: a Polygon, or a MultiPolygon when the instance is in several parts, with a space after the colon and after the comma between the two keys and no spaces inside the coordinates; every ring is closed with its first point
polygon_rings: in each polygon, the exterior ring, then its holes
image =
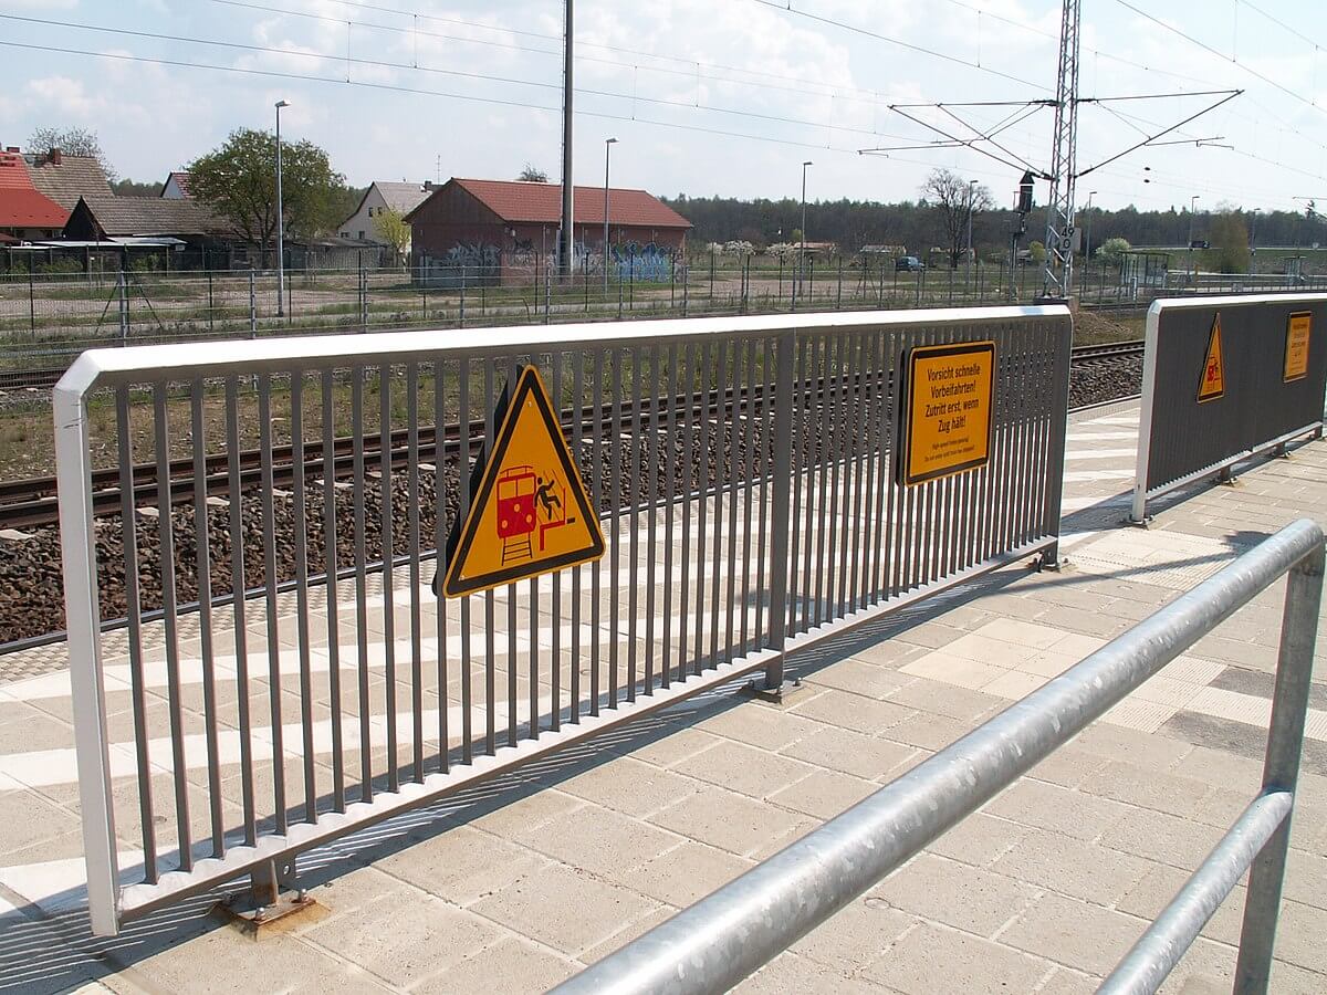
{"type": "Polygon", "coordinates": [[[93,929],[1054,563],[1070,340],[1050,306],[85,353],[54,417],[93,929]],[[904,486],[904,361],[971,341],[989,462],[904,486]],[[606,555],[443,600],[525,365],[606,555]]]}

